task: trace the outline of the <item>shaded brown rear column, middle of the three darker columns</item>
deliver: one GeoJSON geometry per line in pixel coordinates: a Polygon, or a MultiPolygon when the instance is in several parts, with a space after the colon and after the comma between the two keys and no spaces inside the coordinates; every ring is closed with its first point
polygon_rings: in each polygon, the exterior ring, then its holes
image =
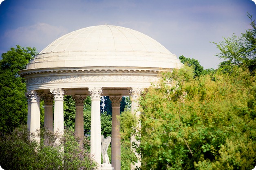
{"type": "Polygon", "coordinates": [[[84,99],[86,96],[73,96],[75,99],[75,135],[84,140],[84,99]]]}

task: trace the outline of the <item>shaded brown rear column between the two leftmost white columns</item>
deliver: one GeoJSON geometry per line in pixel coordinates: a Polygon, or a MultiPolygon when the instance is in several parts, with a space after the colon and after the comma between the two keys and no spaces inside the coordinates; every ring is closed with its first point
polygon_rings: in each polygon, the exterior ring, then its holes
{"type": "Polygon", "coordinates": [[[53,98],[45,95],[44,99],[44,128],[53,131],[53,98]]]}

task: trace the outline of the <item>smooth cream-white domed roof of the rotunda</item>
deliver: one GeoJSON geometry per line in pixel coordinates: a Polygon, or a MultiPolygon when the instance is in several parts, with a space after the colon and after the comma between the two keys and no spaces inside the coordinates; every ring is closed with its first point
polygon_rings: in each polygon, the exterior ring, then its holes
{"type": "Polygon", "coordinates": [[[90,26],[44,48],[26,69],[68,67],[181,68],[177,56],[154,39],[121,26],[90,26]]]}

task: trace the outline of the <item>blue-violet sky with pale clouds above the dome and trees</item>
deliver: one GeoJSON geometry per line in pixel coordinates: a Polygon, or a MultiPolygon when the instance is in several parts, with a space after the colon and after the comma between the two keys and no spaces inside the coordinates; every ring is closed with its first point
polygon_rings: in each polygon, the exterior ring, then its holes
{"type": "MultiPolygon", "coordinates": [[[[0,1],[1,2],[1,1],[0,1]]],[[[251,28],[252,0],[4,0],[0,4],[0,54],[17,44],[42,51],[80,28],[116,25],[146,34],[172,54],[218,68],[219,43],[251,28]]]]}

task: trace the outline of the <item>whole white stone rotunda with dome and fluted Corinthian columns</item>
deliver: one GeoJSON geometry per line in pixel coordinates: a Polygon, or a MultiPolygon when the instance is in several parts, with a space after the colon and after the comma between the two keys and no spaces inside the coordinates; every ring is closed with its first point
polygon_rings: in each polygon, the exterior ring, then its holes
{"type": "Polygon", "coordinates": [[[101,96],[109,96],[113,111],[111,161],[115,170],[120,170],[120,123],[117,115],[121,97],[131,96],[132,112],[139,116],[136,110],[141,92],[157,82],[159,72],[181,67],[176,55],[138,31],[110,25],[73,31],[53,41],[26,65],[25,70],[20,71],[26,79],[28,128],[31,133],[40,129],[40,100],[43,99],[44,126],[62,135],[63,98],[71,95],[76,106],[75,135],[83,139],[83,101],[90,96],[90,150],[100,165],[100,99],[101,96]]]}

